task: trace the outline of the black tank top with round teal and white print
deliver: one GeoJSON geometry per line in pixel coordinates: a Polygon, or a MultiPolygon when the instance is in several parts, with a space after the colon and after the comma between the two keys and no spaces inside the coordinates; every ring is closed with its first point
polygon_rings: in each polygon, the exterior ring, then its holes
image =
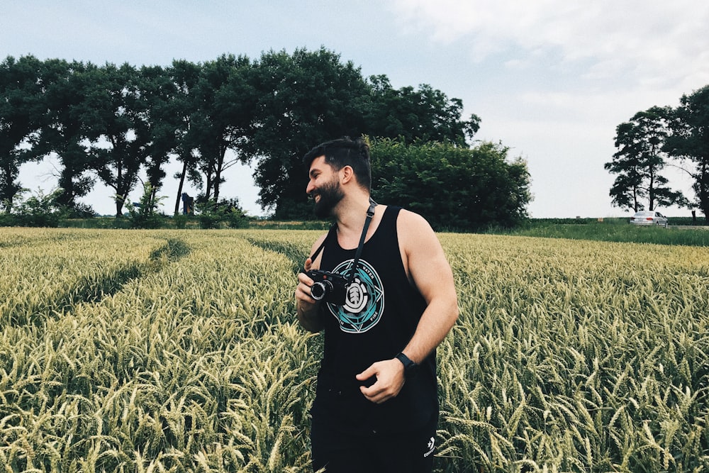
{"type": "MultiPolygon", "coordinates": [[[[426,303],[406,277],[396,220],[401,208],[386,207],[379,227],[364,244],[343,306],[323,304],[325,350],[318,374],[313,416],[341,423],[345,430],[403,431],[437,415],[435,352],[406,379],[396,398],[374,404],[362,395],[355,375],[372,363],[390,360],[406,347],[426,303]]],[[[325,238],[320,269],[349,277],[357,249],[345,250],[336,231],[325,238]]],[[[336,425],[336,424],[335,424],[336,425]]]]}

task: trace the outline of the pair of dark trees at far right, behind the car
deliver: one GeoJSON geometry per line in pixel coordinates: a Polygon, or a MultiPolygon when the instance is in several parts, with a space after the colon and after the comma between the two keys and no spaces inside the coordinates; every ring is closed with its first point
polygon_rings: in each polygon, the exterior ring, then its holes
{"type": "Polygon", "coordinates": [[[652,106],[616,127],[618,152],[604,167],[617,174],[610,196],[618,207],[640,211],[677,205],[699,208],[709,223],[709,85],[684,94],[680,105],[652,106]],[[666,167],[692,179],[693,199],[671,189],[666,167]]]}

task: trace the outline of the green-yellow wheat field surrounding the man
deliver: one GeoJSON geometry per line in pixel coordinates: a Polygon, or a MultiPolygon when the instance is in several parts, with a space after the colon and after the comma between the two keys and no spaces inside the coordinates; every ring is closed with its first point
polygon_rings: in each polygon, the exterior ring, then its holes
{"type": "MultiPolygon", "coordinates": [[[[3,229],[3,471],[308,471],[319,234],[3,229]]],[[[440,240],[437,472],[709,471],[709,249],[440,240]]]]}

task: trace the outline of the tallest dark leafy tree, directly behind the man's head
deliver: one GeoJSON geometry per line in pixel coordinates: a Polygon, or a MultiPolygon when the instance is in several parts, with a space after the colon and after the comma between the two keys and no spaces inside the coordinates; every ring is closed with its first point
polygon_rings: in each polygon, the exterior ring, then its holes
{"type": "Polygon", "coordinates": [[[325,48],[270,51],[255,69],[257,117],[243,149],[257,163],[259,203],[278,218],[308,218],[301,157],[322,141],[364,131],[369,88],[359,68],[325,48]]]}

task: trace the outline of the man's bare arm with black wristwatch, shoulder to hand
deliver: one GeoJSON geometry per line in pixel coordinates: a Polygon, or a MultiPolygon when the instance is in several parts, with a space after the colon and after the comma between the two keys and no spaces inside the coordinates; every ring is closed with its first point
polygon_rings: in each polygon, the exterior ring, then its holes
{"type": "MultiPolygon", "coordinates": [[[[458,299],[452,270],[428,222],[415,213],[401,211],[397,231],[404,267],[427,304],[413,337],[401,350],[420,363],[440,345],[457,320],[458,299]]],[[[374,363],[357,374],[357,379],[372,376],[376,376],[376,382],[368,388],[362,386],[361,391],[377,404],[398,395],[405,382],[403,365],[396,359],[374,363]]]]}

